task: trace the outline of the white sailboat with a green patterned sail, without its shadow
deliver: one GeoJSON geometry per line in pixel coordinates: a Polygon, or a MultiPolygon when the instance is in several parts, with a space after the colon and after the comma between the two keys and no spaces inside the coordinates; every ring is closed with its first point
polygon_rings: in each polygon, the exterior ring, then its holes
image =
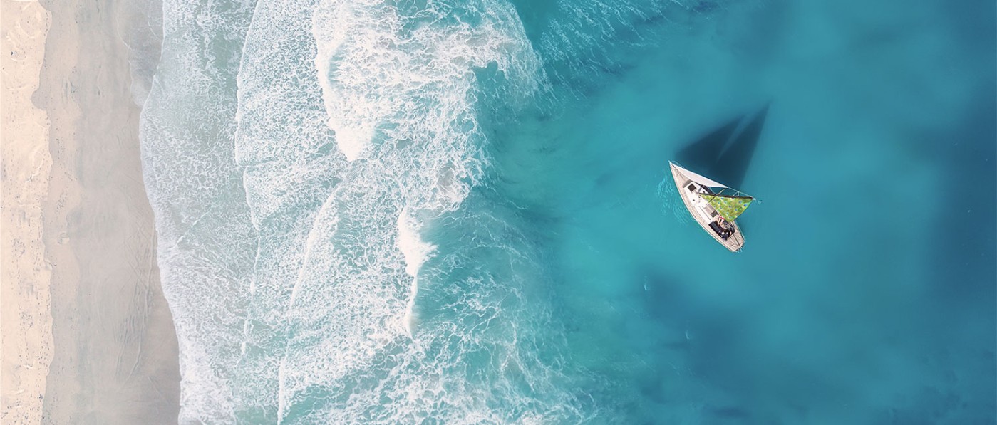
{"type": "Polygon", "coordinates": [[[744,234],[735,221],[755,198],[668,161],[679,196],[692,218],[720,245],[733,252],[745,245],[744,234]]]}

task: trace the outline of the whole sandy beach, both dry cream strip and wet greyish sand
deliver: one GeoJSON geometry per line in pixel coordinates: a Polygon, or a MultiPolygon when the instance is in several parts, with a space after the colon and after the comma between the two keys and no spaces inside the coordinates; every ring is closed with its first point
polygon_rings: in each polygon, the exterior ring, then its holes
{"type": "MultiPolygon", "coordinates": [[[[25,5],[0,1],[6,36],[15,28],[8,10],[25,5]]],[[[142,181],[123,4],[43,1],[51,27],[40,79],[42,47],[18,51],[34,55],[35,80],[21,85],[38,84],[31,99],[41,110],[22,117],[31,102],[4,100],[3,304],[18,309],[3,313],[4,424],[176,422],[176,337],[142,181]],[[8,333],[15,315],[17,333],[8,333]]],[[[4,49],[6,98],[13,50],[4,49]]]]}

